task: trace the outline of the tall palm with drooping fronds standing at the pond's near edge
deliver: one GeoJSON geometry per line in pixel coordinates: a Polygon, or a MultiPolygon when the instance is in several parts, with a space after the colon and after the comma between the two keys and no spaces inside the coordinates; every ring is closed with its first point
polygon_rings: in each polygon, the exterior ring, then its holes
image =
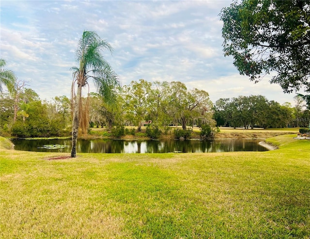
{"type": "Polygon", "coordinates": [[[109,63],[103,57],[103,50],[112,53],[112,47],[106,40],[102,40],[96,32],[84,31],[82,38],[78,42],[76,60],[79,67],[72,67],[72,150],[71,157],[76,157],[76,144],[78,139],[78,127],[82,132],[86,132],[89,125],[88,97],[85,106],[82,104],[81,90],[88,85],[88,81],[93,79],[97,92],[103,99],[112,103],[115,100],[115,87],[120,86],[118,76],[115,74],[109,63]],[[77,94],[75,94],[75,84],[77,84],[77,94]]]}

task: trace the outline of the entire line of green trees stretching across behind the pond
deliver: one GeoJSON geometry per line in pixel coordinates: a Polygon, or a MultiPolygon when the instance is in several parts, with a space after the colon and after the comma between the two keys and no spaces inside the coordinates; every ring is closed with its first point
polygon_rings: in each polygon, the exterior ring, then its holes
{"type": "MultiPolygon", "coordinates": [[[[55,96],[42,101],[36,92],[16,83],[15,91],[1,93],[0,134],[18,137],[69,136],[72,116],[70,99],[55,96]]],[[[108,105],[97,94],[89,95],[89,126],[135,126],[147,122],[153,129],[167,131],[170,126],[187,127],[308,127],[310,112],[302,98],[295,105],[280,105],[264,96],[220,98],[214,104],[206,91],[188,90],[184,83],[132,81],[115,93],[108,105]]],[[[86,99],[83,99],[86,100],[86,99]]],[[[155,132],[155,131],[154,131],[155,132]]],[[[156,131],[158,132],[158,131],[156,131]]]]}

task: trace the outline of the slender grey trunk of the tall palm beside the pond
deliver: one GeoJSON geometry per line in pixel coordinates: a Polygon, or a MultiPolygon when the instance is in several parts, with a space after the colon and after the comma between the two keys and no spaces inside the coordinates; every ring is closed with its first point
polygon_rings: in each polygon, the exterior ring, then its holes
{"type": "Polygon", "coordinates": [[[73,122],[72,122],[72,149],[71,149],[71,158],[76,157],[76,147],[78,140],[78,125],[79,125],[79,101],[81,100],[82,86],[78,85],[77,96],[74,101],[73,109],[73,122]]]}

